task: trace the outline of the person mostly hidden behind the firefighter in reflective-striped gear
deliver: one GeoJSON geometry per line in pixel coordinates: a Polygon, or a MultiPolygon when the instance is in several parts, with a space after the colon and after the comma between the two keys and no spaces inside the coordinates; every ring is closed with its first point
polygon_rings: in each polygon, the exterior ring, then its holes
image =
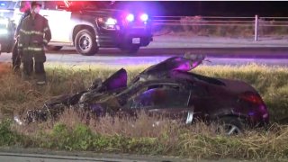
{"type": "Polygon", "coordinates": [[[18,36],[19,36],[19,30],[20,30],[20,26],[23,23],[23,20],[29,15],[31,14],[30,12],[30,2],[29,1],[21,1],[20,3],[20,12],[23,13],[18,26],[16,28],[15,34],[14,34],[14,38],[15,38],[15,43],[14,43],[14,47],[12,50],[12,68],[14,70],[14,72],[19,71],[20,70],[20,65],[21,65],[21,58],[20,58],[20,54],[18,53],[18,36]]]}

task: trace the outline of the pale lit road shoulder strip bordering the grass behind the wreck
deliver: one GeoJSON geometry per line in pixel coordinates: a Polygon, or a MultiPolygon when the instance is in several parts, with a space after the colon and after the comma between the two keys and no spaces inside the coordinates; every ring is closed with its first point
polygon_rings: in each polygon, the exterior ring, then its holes
{"type": "MultiPolygon", "coordinates": [[[[162,49],[158,53],[154,49],[143,49],[137,55],[122,55],[118,49],[103,49],[101,54],[96,56],[81,56],[76,54],[73,49],[66,49],[58,51],[58,53],[48,53],[47,61],[49,63],[65,63],[72,65],[103,65],[103,66],[117,66],[124,67],[126,65],[147,65],[156,64],[171,56],[183,55],[183,50],[179,50],[174,55],[171,54],[171,49],[162,49]],[[63,54],[64,53],[64,54],[63,54]],[[158,53],[158,54],[157,54],[158,53]]],[[[205,52],[195,52],[203,53],[205,52]]],[[[288,66],[288,54],[272,53],[271,55],[261,55],[257,52],[250,54],[207,54],[207,59],[211,62],[204,62],[204,65],[231,65],[240,66],[246,64],[259,64],[266,66],[288,66]]],[[[11,53],[2,53],[0,62],[11,62],[11,53]]]]}

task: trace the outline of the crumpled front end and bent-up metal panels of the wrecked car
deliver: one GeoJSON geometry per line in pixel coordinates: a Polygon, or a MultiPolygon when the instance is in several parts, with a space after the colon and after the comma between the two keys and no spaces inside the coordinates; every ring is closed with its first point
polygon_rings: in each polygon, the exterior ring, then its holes
{"type": "MultiPolygon", "coordinates": [[[[204,58],[202,55],[167,58],[141,72],[139,76],[136,76],[129,88],[133,88],[133,84],[136,84],[137,81],[148,81],[160,77],[163,77],[163,81],[165,81],[165,78],[169,76],[168,74],[174,71],[190,71],[201,64],[204,58]]],[[[28,123],[32,121],[46,121],[48,117],[57,117],[59,113],[64,112],[65,107],[68,108],[74,105],[78,105],[85,111],[93,112],[96,116],[100,116],[104,112],[116,112],[123,104],[127,103],[127,99],[130,96],[123,95],[124,97],[116,98],[110,92],[117,92],[117,90],[121,92],[121,90],[127,88],[127,78],[126,70],[121,68],[104,82],[101,82],[100,79],[95,79],[94,83],[85,91],[71,96],[61,96],[54,101],[45,103],[40,110],[28,111],[25,121],[28,123]]],[[[157,97],[153,96],[152,98],[155,101],[160,100],[157,97]]]]}

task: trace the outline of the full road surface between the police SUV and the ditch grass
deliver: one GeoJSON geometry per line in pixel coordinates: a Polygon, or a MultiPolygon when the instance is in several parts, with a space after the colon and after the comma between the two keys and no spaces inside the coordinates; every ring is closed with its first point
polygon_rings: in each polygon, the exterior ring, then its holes
{"type": "MultiPolygon", "coordinates": [[[[246,65],[256,63],[267,66],[288,66],[288,38],[251,39],[158,36],[135,55],[121,53],[119,49],[100,49],[95,56],[81,56],[74,48],[48,52],[49,63],[72,65],[121,66],[155,64],[185,52],[205,54],[211,62],[205,65],[246,65]]],[[[11,53],[2,53],[0,62],[11,62],[11,53]]]]}

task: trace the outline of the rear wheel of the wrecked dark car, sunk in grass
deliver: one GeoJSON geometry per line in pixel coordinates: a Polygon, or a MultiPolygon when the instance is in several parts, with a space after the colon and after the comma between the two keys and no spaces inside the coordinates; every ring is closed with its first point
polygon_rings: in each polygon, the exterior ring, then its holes
{"type": "MultiPolygon", "coordinates": [[[[240,118],[234,116],[222,117],[219,120],[221,128],[228,136],[238,135],[243,132],[244,125],[240,118]]],[[[219,129],[217,129],[219,130],[219,129]]]]}

